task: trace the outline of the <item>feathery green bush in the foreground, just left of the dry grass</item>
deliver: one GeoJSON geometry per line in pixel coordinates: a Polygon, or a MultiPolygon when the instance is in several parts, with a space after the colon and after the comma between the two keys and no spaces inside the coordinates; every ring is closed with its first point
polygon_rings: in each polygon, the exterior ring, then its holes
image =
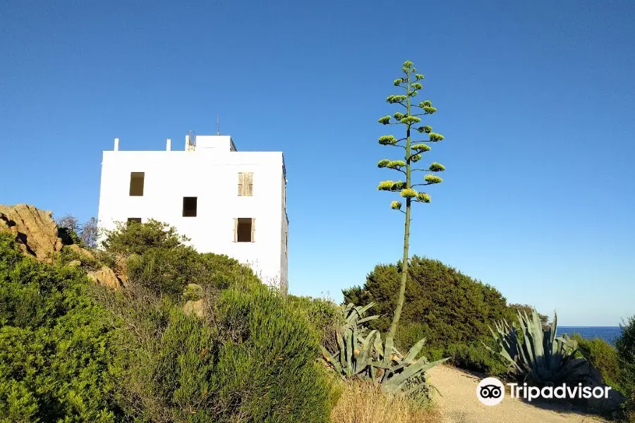
{"type": "Polygon", "coordinates": [[[140,421],[327,421],[335,391],[317,364],[320,335],[260,283],[222,290],[210,319],[143,288],[104,295],[135,328],[122,333],[129,356],[117,397],[140,421]]]}

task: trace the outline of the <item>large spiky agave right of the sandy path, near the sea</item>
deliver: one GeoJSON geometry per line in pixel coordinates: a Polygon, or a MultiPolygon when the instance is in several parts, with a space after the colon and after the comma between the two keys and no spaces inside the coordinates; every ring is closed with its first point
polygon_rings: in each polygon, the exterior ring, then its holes
{"type": "Polygon", "coordinates": [[[577,341],[567,335],[556,337],[557,314],[546,329],[543,329],[536,309],[533,309],[531,317],[526,312],[519,312],[518,320],[519,328],[505,320],[495,322],[495,331],[490,327],[498,351],[483,344],[492,353],[500,353],[504,357],[509,364],[509,372],[516,379],[542,385],[590,383],[595,380],[596,372],[593,372],[591,364],[583,358],[576,358],[576,352],[580,351],[577,341]]]}

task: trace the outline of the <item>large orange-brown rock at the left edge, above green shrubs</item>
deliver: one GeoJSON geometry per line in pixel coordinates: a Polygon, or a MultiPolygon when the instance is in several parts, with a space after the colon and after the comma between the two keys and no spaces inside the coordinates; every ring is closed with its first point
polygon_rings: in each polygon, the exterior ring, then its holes
{"type": "Polygon", "coordinates": [[[51,212],[27,204],[0,205],[0,231],[16,237],[23,252],[42,262],[53,262],[63,247],[51,212]]]}

